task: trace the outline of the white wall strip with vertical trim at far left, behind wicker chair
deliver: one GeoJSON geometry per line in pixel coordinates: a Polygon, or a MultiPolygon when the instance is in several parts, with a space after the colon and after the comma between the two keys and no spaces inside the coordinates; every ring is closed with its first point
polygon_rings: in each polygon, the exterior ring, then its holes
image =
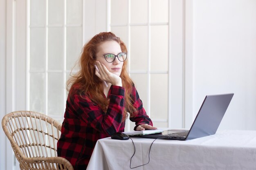
{"type": "MultiPolygon", "coordinates": [[[[26,110],[26,1],[0,0],[0,120],[26,110]]],[[[0,170],[19,169],[11,144],[0,130],[0,170]],[[16,166],[13,166],[16,165],[16,166]]]]}

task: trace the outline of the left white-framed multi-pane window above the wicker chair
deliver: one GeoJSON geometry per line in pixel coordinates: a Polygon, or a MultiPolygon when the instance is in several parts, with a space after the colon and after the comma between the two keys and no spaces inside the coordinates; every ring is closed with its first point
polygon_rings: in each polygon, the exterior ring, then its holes
{"type": "Polygon", "coordinates": [[[28,6],[28,108],[62,122],[65,84],[83,47],[83,1],[31,0],[28,6]]]}

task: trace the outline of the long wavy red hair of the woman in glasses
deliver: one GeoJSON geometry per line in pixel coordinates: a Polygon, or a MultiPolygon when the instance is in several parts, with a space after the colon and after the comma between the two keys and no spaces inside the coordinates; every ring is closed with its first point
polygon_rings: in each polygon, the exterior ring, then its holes
{"type": "MultiPolygon", "coordinates": [[[[94,64],[96,61],[97,47],[105,41],[116,41],[120,45],[121,51],[127,53],[126,45],[115,34],[111,32],[102,32],[95,35],[87,44],[83,46],[83,51],[78,61],[79,71],[67,80],[66,86],[67,91],[70,93],[73,93],[73,90],[71,89],[72,86],[75,86],[75,89],[79,91],[81,96],[82,94],[88,94],[87,96],[92,100],[92,102],[100,106],[104,112],[107,111],[109,99],[106,99],[102,95],[103,82],[99,77],[95,75],[94,64]]],[[[130,117],[133,117],[136,111],[135,107],[133,106],[134,99],[130,96],[132,86],[134,84],[126,71],[127,62],[128,61],[126,59],[124,61],[120,75],[122,79],[122,85],[125,88],[125,110],[123,113],[124,119],[127,116],[127,112],[130,113],[130,117]]],[[[74,90],[74,92],[76,90],[74,90]]]]}

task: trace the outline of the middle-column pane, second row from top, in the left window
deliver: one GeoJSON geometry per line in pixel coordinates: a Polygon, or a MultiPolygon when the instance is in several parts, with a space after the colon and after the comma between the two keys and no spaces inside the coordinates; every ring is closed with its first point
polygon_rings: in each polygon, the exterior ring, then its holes
{"type": "Polygon", "coordinates": [[[50,27],[48,29],[48,69],[63,70],[63,28],[50,27]]]}

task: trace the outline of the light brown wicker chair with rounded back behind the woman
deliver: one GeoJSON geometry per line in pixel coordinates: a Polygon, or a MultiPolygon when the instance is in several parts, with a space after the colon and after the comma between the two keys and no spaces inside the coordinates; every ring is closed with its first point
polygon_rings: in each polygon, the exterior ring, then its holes
{"type": "Polygon", "coordinates": [[[57,157],[61,124],[41,113],[16,111],[5,115],[2,128],[11,142],[20,170],[74,170],[57,157]]]}

